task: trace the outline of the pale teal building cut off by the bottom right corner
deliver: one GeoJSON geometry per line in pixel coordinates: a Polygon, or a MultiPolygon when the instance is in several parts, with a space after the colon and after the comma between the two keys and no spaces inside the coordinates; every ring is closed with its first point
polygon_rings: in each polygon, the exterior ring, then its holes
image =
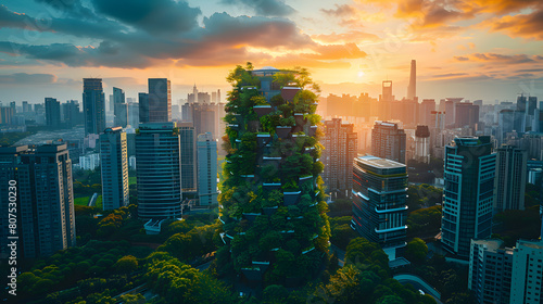
{"type": "Polygon", "coordinates": [[[512,304],[543,302],[543,242],[518,240],[513,253],[512,304]]]}

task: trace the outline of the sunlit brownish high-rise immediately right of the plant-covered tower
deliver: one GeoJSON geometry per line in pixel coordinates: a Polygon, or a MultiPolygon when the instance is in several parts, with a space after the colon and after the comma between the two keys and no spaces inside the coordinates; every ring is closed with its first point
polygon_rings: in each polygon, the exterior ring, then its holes
{"type": "Polygon", "coordinates": [[[327,191],[340,191],[351,197],[353,189],[353,160],[356,157],[357,135],[353,131],[353,124],[343,124],[341,118],[325,122],[325,138],[323,145],[323,163],[325,170],[323,180],[327,191]]]}

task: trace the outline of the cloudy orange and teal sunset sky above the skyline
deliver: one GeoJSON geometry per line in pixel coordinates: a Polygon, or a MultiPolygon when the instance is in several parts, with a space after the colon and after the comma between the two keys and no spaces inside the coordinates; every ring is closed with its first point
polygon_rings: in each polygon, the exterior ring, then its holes
{"type": "Polygon", "coordinates": [[[8,0],[0,4],[0,101],[81,100],[84,77],[126,97],[166,77],[226,90],[236,64],[307,67],[323,94],[543,99],[541,0],[8,0]]]}

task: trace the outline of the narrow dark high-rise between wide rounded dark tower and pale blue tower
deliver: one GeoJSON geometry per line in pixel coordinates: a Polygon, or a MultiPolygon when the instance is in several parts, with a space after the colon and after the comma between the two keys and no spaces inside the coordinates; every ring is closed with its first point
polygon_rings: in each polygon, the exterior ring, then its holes
{"type": "Polygon", "coordinates": [[[181,142],[181,189],[182,193],[197,193],[198,164],[197,138],[192,123],[180,123],[179,139],[181,142]]]}

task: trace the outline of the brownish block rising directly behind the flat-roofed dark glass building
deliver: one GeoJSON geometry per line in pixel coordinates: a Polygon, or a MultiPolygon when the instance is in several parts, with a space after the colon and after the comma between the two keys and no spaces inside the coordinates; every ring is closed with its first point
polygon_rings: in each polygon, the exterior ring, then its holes
{"type": "Polygon", "coordinates": [[[371,154],[405,164],[405,140],[397,124],[377,121],[371,130],[371,154]]]}

